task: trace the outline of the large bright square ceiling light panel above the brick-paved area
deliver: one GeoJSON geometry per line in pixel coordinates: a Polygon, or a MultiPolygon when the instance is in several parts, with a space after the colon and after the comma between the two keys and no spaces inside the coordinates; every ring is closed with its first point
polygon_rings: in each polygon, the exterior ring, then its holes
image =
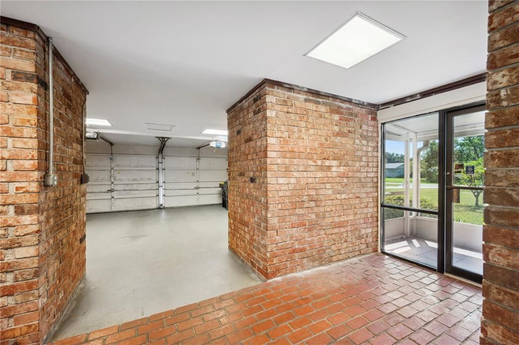
{"type": "Polygon", "coordinates": [[[405,36],[357,12],[306,56],[350,68],[404,39],[405,36]]]}

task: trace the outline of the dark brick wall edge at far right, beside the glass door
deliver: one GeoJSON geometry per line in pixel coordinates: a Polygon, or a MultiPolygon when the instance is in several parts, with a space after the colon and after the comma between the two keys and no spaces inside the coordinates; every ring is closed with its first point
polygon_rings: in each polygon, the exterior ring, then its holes
{"type": "Polygon", "coordinates": [[[519,2],[490,1],[482,344],[519,343],[519,2]]]}

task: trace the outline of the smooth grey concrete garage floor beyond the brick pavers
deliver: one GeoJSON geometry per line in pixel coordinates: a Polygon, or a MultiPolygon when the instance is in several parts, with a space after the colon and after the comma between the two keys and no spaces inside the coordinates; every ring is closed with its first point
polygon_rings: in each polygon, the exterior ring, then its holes
{"type": "Polygon", "coordinates": [[[221,205],[87,215],[87,274],[56,341],[255,285],[221,205]]]}

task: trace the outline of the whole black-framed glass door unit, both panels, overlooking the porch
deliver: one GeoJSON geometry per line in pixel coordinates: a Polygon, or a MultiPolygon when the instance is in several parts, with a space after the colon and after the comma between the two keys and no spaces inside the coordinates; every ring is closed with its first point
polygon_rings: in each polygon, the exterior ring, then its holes
{"type": "Polygon", "coordinates": [[[382,126],[381,249],[481,281],[484,105],[382,126]]]}

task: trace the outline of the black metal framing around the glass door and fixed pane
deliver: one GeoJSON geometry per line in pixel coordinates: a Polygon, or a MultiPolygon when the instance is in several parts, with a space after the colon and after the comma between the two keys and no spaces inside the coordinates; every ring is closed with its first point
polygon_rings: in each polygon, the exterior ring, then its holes
{"type": "MultiPolygon", "coordinates": [[[[452,183],[452,153],[453,153],[453,117],[457,115],[470,114],[475,111],[484,111],[485,110],[485,102],[475,102],[462,106],[456,106],[452,108],[441,109],[438,112],[431,112],[426,114],[420,114],[415,116],[410,116],[407,118],[402,118],[398,120],[392,120],[381,123],[381,140],[380,140],[380,167],[381,167],[381,178],[380,178],[380,251],[388,256],[395,257],[409,263],[413,263],[415,265],[435,270],[438,273],[450,273],[457,275],[458,277],[465,278],[471,281],[479,282],[482,281],[482,276],[480,274],[463,270],[461,268],[455,267],[452,265],[452,184],[447,185],[447,183],[452,183]],[[385,183],[384,183],[384,174],[385,174],[385,125],[387,123],[400,121],[403,119],[409,119],[414,117],[426,116],[438,113],[438,211],[430,211],[430,210],[421,210],[414,208],[407,208],[402,206],[389,205],[384,203],[385,196],[385,183]],[[449,143],[449,144],[447,144],[449,143]],[[450,168],[447,168],[450,167],[450,168]],[[447,171],[449,175],[447,175],[447,171]],[[447,181],[447,176],[450,178],[447,181]],[[401,257],[399,255],[395,255],[392,253],[388,253],[384,250],[384,238],[385,238],[385,222],[384,222],[384,209],[397,209],[403,211],[412,211],[412,212],[422,212],[435,214],[438,216],[438,259],[436,261],[436,267],[432,267],[426,264],[419,263],[418,261],[413,261],[411,259],[407,259],[401,257]],[[448,228],[450,231],[447,231],[448,228]],[[447,250],[450,248],[450,250],[447,250]]],[[[474,189],[474,188],[470,188],[474,189]]]]}

